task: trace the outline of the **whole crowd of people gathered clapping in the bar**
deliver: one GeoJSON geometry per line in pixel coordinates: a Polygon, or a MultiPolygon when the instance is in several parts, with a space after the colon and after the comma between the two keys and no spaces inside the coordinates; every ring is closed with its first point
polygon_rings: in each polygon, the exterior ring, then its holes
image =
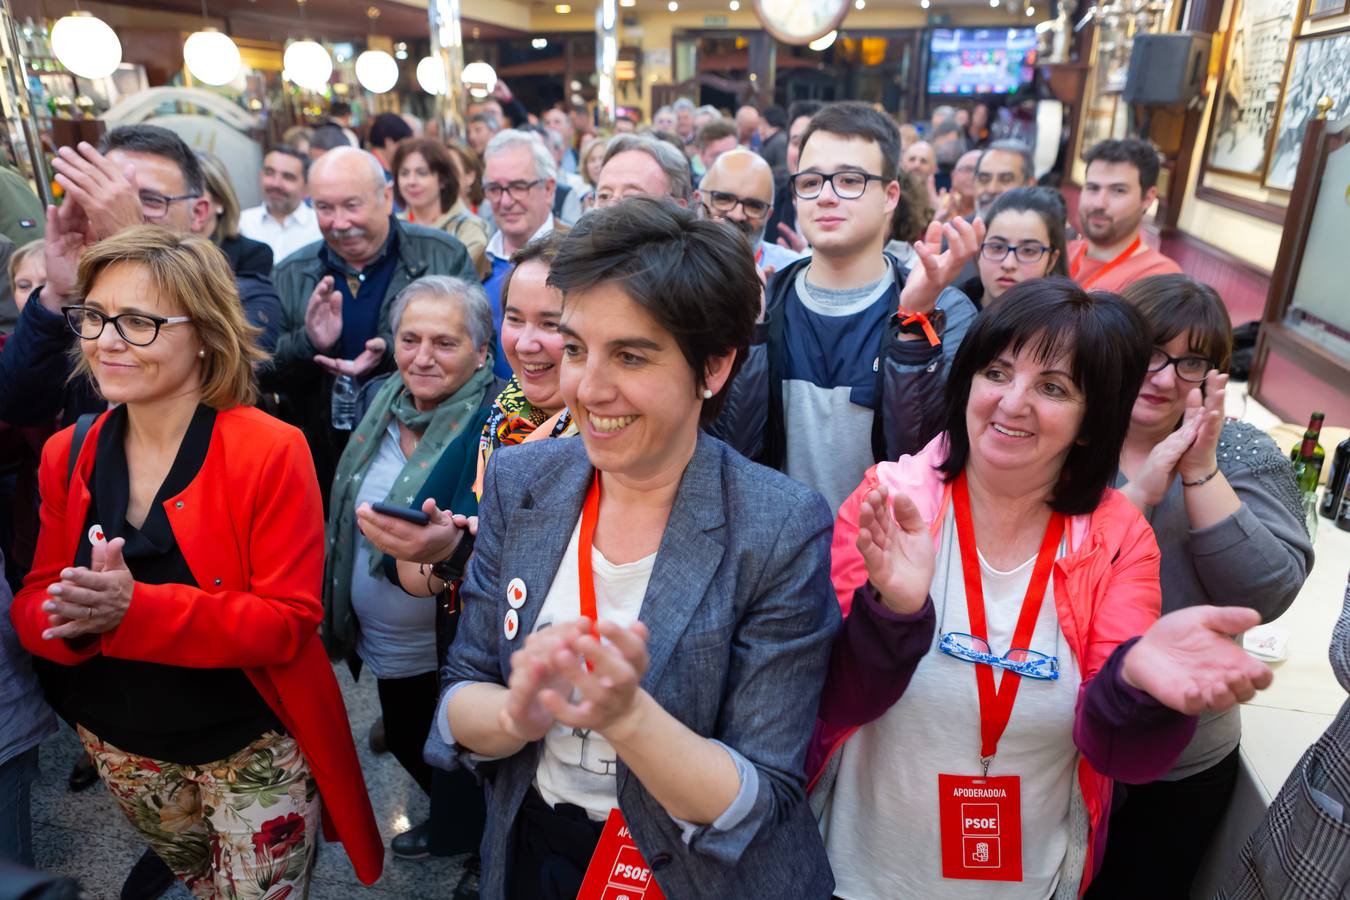
{"type": "Polygon", "coordinates": [[[1272,679],[1234,638],[1314,555],[1150,144],[1087,150],[1075,232],[983,105],[348,113],[251,209],[154,124],[59,150],[0,858],[59,716],[123,897],[304,893],[320,830],[374,882],[342,661],[429,797],[390,853],[485,899],[622,835],[671,897],[1188,896],[1272,679]]]}

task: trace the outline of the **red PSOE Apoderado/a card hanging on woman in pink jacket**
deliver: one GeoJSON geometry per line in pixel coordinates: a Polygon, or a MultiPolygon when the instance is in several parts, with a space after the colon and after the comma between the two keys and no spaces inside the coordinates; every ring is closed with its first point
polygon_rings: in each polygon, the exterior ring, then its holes
{"type": "Polygon", "coordinates": [[[1022,789],[1018,776],[981,779],[938,775],[937,797],[944,878],[1022,880],[1022,789]]]}

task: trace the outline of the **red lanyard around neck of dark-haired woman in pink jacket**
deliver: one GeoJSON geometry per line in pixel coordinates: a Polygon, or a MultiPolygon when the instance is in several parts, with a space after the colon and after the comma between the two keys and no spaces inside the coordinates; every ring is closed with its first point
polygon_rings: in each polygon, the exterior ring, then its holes
{"type": "MultiPolygon", "coordinates": [[[[965,483],[965,472],[956,476],[952,484],[952,507],[956,513],[956,536],[961,545],[961,575],[965,580],[965,606],[971,615],[971,634],[988,641],[990,629],[984,618],[984,586],[980,579],[979,549],[975,545],[975,524],[971,521],[971,493],[965,483]]],[[[1035,568],[1031,569],[1031,583],[1026,588],[1026,598],[1022,600],[1022,611],[1017,618],[1017,629],[1013,631],[1013,649],[1026,649],[1035,631],[1035,619],[1041,615],[1041,603],[1045,600],[1045,588],[1050,583],[1050,568],[1054,565],[1054,555],[1064,536],[1064,515],[1050,514],[1050,522],[1045,526],[1045,537],[1041,540],[1041,551],[1035,556],[1035,568]]],[[[983,663],[975,664],[975,684],[980,692],[980,761],[988,773],[990,760],[998,752],[999,738],[1008,727],[1013,718],[1013,703],[1017,702],[1017,688],[1022,683],[1022,676],[1015,672],[1003,672],[998,688],[994,687],[994,667],[983,663]]]]}

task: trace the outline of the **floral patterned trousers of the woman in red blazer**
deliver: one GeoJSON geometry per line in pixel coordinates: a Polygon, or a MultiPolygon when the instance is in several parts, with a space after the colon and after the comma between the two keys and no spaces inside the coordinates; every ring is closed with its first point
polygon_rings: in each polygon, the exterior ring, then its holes
{"type": "Polygon", "coordinates": [[[78,731],[131,826],[193,896],[308,896],[320,801],[294,738],[267,731],[228,758],[181,765],[78,731]]]}

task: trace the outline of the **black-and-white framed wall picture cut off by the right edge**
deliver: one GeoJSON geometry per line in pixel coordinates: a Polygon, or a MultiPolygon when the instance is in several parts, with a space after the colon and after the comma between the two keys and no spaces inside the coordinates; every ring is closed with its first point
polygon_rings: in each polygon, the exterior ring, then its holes
{"type": "Polygon", "coordinates": [[[1293,45],[1289,77],[1285,80],[1276,139],[1266,165],[1266,188],[1293,189],[1293,175],[1303,155],[1303,131],[1315,115],[1318,101],[1331,97],[1332,115],[1350,111],[1350,28],[1310,35],[1293,45]]]}

